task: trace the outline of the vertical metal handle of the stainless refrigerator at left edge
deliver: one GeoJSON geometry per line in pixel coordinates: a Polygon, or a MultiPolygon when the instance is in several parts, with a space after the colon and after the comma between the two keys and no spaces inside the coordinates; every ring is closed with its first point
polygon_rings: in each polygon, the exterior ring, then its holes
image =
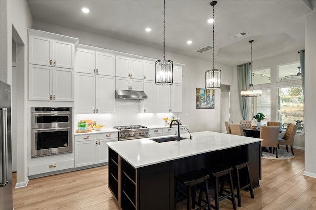
{"type": "Polygon", "coordinates": [[[1,112],[1,139],[2,139],[2,174],[0,175],[0,187],[6,186],[8,181],[8,132],[7,132],[7,108],[0,108],[1,112]]]}

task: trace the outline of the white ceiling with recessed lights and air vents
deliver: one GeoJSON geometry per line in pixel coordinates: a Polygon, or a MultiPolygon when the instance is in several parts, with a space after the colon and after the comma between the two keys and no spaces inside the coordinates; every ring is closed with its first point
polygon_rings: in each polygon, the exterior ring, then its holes
{"type": "MultiPolygon", "coordinates": [[[[163,49],[163,0],[27,0],[34,20],[163,49]],[[90,9],[89,14],[81,12],[90,9]],[[150,33],[145,28],[150,27],[150,33]]],[[[166,0],[166,51],[211,60],[210,0],[166,0]],[[192,40],[191,45],[186,44],[192,40]]],[[[237,65],[304,49],[306,0],[219,0],[215,62],[237,65]],[[239,39],[232,36],[247,32],[239,39]]],[[[168,58],[166,58],[168,59],[168,58]]]]}

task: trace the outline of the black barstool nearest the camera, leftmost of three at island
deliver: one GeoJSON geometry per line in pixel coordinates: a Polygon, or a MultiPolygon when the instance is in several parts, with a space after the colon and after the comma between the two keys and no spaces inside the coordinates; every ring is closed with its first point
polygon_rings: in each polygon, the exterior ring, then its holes
{"type": "MultiPolygon", "coordinates": [[[[194,170],[185,174],[180,174],[175,176],[175,200],[174,200],[174,209],[176,209],[176,205],[178,202],[178,193],[185,196],[187,198],[187,210],[191,210],[195,208],[197,204],[199,207],[195,210],[202,210],[206,207],[208,210],[211,210],[211,203],[209,200],[209,191],[208,191],[208,183],[207,179],[209,178],[208,174],[205,174],[201,171],[194,170]],[[184,193],[179,189],[179,183],[183,184],[186,187],[187,192],[184,193]],[[203,184],[204,183],[204,184],[203,184]],[[206,201],[203,201],[205,205],[201,205],[201,203],[196,202],[196,186],[206,192],[206,201]]],[[[200,190],[200,191],[201,191],[200,190]]]]}

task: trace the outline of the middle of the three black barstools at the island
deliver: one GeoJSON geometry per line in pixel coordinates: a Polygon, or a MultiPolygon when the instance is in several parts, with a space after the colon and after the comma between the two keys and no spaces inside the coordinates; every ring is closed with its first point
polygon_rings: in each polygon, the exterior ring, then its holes
{"type": "MultiPolygon", "coordinates": [[[[217,165],[214,166],[210,169],[206,169],[203,168],[202,171],[204,171],[205,173],[207,173],[208,175],[210,175],[210,185],[214,188],[214,199],[215,199],[215,206],[211,205],[212,208],[219,210],[219,202],[225,198],[229,199],[230,201],[232,201],[232,205],[234,210],[236,210],[236,202],[235,202],[235,194],[234,194],[234,188],[233,188],[233,180],[232,180],[232,171],[233,168],[232,167],[227,167],[225,165],[217,165]],[[230,191],[223,189],[223,183],[224,183],[224,178],[225,176],[228,175],[229,177],[229,187],[230,187],[230,191]],[[221,197],[219,196],[219,179],[222,179],[222,184],[221,184],[221,192],[226,192],[226,194],[222,194],[221,193],[221,197]]],[[[202,199],[202,194],[203,192],[201,192],[199,194],[199,198],[198,198],[198,203],[200,203],[201,201],[203,201],[202,199]]]]}

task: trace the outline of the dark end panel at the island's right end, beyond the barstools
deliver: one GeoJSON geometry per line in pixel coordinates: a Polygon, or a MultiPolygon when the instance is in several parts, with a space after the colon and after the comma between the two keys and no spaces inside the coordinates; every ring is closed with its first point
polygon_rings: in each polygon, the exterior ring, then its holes
{"type": "Polygon", "coordinates": [[[248,160],[252,186],[258,187],[261,180],[261,142],[248,145],[248,160]]]}

